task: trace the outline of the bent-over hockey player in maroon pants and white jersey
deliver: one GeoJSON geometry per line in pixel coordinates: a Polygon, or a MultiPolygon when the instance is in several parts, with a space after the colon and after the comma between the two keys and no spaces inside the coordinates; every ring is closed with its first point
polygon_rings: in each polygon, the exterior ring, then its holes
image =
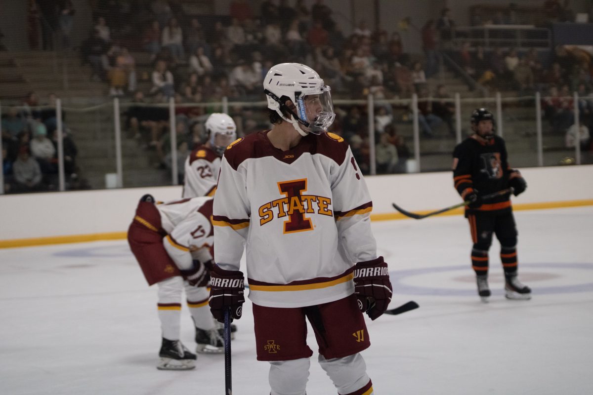
{"type": "Polygon", "coordinates": [[[158,317],[161,321],[161,370],[188,370],[195,367],[196,355],[179,340],[181,293],[186,291],[196,329],[196,351],[221,354],[222,338],[208,308],[209,269],[213,242],[212,198],[199,197],[155,203],[144,195],[127,232],[130,249],[136,256],[149,285],[158,286],[158,317]]]}

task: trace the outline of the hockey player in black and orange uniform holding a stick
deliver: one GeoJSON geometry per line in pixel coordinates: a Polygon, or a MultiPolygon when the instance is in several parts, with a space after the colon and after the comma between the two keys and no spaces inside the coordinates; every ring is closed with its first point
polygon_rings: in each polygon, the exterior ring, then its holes
{"type": "Polygon", "coordinates": [[[530,299],[531,289],[517,280],[517,228],[512,213],[510,193],[487,201],[483,195],[513,188],[515,196],[525,191],[527,183],[507,161],[505,140],[494,134],[493,115],[486,108],[471,114],[474,133],[457,144],[453,152],[453,179],[461,197],[470,201],[466,218],[470,223],[473,249],[471,264],[476,272],[478,294],[482,301],[490,297],[488,287],[488,250],[492,233],[500,242],[500,260],[505,272],[505,291],[509,299],[530,299]]]}

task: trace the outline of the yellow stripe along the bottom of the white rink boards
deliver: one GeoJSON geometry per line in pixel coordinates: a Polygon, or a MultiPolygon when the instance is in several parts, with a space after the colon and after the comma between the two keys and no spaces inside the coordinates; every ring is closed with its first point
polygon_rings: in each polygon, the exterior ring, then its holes
{"type": "MultiPolygon", "coordinates": [[[[522,203],[514,204],[513,210],[543,210],[546,208],[561,208],[561,207],[580,207],[584,205],[593,205],[593,199],[586,200],[571,200],[571,201],[551,201],[544,203],[522,203]]],[[[395,211],[395,210],[394,210],[395,211]]],[[[417,211],[418,214],[426,214],[433,210],[417,211]]],[[[415,211],[416,212],[416,211],[415,211]]],[[[447,211],[439,216],[454,216],[463,214],[462,208],[447,211]]],[[[401,213],[379,213],[371,214],[372,221],[390,221],[409,219],[401,213]]],[[[126,232],[107,232],[107,233],[91,233],[89,235],[69,235],[69,236],[52,236],[52,237],[33,237],[30,239],[9,239],[0,240],[0,248],[17,248],[30,246],[43,246],[50,244],[69,244],[69,243],[84,243],[95,242],[99,240],[120,240],[125,239],[126,232]]]]}

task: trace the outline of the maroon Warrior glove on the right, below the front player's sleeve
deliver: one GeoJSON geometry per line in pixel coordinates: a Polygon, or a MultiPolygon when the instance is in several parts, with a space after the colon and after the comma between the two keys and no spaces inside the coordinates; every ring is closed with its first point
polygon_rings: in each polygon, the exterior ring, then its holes
{"type": "Polygon", "coordinates": [[[382,256],[354,266],[354,293],[358,298],[358,308],[371,320],[387,310],[392,291],[387,264],[382,256]]]}

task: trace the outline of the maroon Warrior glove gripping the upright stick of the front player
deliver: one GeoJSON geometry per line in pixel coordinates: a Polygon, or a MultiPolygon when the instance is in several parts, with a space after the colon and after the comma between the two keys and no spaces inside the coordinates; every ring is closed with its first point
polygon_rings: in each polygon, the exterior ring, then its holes
{"type": "Polygon", "coordinates": [[[240,319],[243,313],[244,277],[238,270],[224,270],[218,265],[210,272],[210,311],[218,322],[224,323],[224,310],[231,310],[231,319],[240,319]]]}

